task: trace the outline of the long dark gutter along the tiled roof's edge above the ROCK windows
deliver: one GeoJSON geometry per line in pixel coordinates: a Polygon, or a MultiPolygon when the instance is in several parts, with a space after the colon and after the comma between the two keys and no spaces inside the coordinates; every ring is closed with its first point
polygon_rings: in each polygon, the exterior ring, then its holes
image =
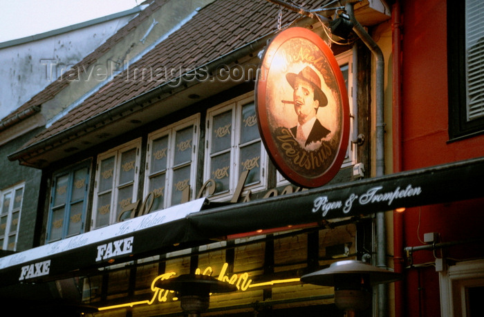
{"type": "MultiPolygon", "coordinates": [[[[298,21],[297,25],[308,26],[314,22],[314,19],[305,17],[298,21]]],[[[23,160],[23,157],[28,156],[32,152],[41,151],[47,146],[55,146],[54,144],[67,142],[69,140],[72,140],[73,137],[84,135],[88,131],[92,131],[93,129],[99,128],[100,126],[105,126],[105,122],[111,122],[111,119],[113,117],[123,117],[124,113],[126,112],[133,113],[135,112],[134,108],[143,108],[144,106],[151,104],[152,99],[156,98],[160,100],[162,99],[161,96],[163,94],[172,94],[177,87],[183,87],[187,84],[192,83],[194,81],[194,74],[197,74],[197,70],[203,70],[204,72],[212,74],[214,70],[216,70],[217,67],[220,65],[231,64],[237,59],[240,59],[241,57],[245,57],[252,52],[261,50],[264,46],[267,45],[268,40],[271,39],[277,32],[279,32],[279,30],[273,30],[268,34],[259,37],[259,39],[255,39],[254,41],[245,44],[245,46],[236,48],[235,50],[232,50],[232,52],[218,57],[217,59],[214,59],[207,64],[199,66],[196,70],[192,70],[188,73],[180,75],[179,77],[176,77],[175,79],[171,79],[161,84],[160,86],[147,91],[146,93],[142,93],[142,95],[139,95],[138,97],[129,99],[126,102],[119,104],[118,106],[115,106],[109,110],[104,111],[103,113],[95,115],[89,120],[80,122],[79,124],[76,124],[75,126],[68,128],[67,130],[61,131],[51,137],[48,137],[47,139],[40,140],[39,142],[36,142],[26,148],[14,152],[8,155],[8,160],[23,160]],[[176,86],[173,85],[174,82],[177,83],[176,86]]]]}

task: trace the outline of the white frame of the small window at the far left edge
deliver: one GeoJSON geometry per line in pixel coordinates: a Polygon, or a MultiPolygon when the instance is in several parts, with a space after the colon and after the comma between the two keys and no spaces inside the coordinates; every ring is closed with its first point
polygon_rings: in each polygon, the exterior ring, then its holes
{"type": "Polygon", "coordinates": [[[22,204],[24,204],[24,194],[25,194],[25,183],[17,184],[17,185],[12,186],[8,189],[0,191],[0,215],[1,215],[2,218],[5,215],[7,217],[5,235],[2,237],[3,238],[3,244],[0,246],[2,250],[17,251],[17,240],[19,238],[19,226],[20,226],[22,204]],[[13,206],[15,204],[15,193],[19,189],[22,190],[21,202],[19,204],[19,207],[14,210],[13,206]],[[4,203],[3,200],[8,193],[12,194],[12,202],[10,202],[10,205],[8,206],[8,210],[6,211],[6,210],[4,210],[5,206],[3,205],[3,203],[4,203]],[[17,211],[19,212],[19,218],[17,219],[17,230],[11,232],[10,231],[10,224],[12,222],[12,215],[13,215],[13,213],[15,213],[17,211]],[[8,249],[9,237],[13,236],[13,235],[15,235],[14,246],[11,249],[8,249]]]}

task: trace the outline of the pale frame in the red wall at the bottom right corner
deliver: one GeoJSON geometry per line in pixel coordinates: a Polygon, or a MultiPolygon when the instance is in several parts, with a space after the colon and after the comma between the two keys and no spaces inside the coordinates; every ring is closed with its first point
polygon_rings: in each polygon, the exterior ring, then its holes
{"type": "Polygon", "coordinates": [[[484,260],[458,262],[439,272],[440,316],[467,317],[467,288],[484,286],[484,260]]]}

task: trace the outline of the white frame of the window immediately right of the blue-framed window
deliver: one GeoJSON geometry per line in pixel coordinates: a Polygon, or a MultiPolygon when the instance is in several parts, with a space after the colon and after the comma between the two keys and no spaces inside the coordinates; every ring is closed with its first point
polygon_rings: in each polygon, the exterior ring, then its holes
{"type": "Polygon", "coordinates": [[[99,185],[100,185],[100,177],[101,175],[101,162],[102,160],[115,156],[115,169],[113,171],[113,187],[111,189],[111,209],[110,209],[110,215],[109,215],[109,224],[114,224],[115,222],[118,222],[117,215],[116,215],[116,210],[118,207],[118,179],[119,179],[119,171],[121,169],[121,160],[120,160],[120,153],[129,151],[133,148],[136,148],[136,162],[135,162],[135,175],[134,175],[134,181],[133,181],[133,198],[131,199],[131,202],[136,202],[138,199],[138,182],[139,182],[139,175],[140,175],[140,149],[141,149],[141,138],[138,138],[136,140],[133,140],[131,142],[128,142],[126,144],[122,144],[120,146],[117,146],[115,148],[112,148],[109,151],[106,151],[104,153],[101,153],[100,155],[97,156],[97,164],[96,164],[96,176],[95,176],[95,190],[94,190],[94,199],[93,199],[93,215],[92,215],[92,221],[91,221],[91,229],[99,229],[105,226],[100,226],[100,227],[95,227],[96,223],[96,216],[97,216],[97,204],[98,204],[98,199],[99,199],[99,185]]]}

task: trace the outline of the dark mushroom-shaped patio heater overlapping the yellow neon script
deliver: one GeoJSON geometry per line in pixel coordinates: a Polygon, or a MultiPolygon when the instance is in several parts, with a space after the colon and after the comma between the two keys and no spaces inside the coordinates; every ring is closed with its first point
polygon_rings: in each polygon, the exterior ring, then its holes
{"type": "Polygon", "coordinates": [[[201,274],[183,274],[176,278],[159,280],[155,286],[176,291],[180,306],[188,317],[198,317],[208,309],[211,293],[227,293],[237,289],[228,282],[201,274]]]}

